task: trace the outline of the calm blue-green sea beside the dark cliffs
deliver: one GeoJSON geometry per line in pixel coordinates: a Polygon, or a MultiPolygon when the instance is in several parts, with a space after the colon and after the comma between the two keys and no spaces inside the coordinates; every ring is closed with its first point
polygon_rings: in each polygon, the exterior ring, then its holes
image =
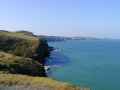
{"type": "Polygon", "coordinates": [[[48,75],[91,90],[120,90],[119,40],[50,42],[56,48],[48,59],[48,75]]]}

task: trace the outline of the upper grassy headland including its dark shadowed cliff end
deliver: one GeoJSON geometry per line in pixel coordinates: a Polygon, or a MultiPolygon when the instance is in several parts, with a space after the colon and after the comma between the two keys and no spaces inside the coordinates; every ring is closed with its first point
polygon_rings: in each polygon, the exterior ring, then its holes
{"type": "Polygon", "coordinates": [[[39,57],[49,54],[49,47],[44,39],[21,32],[0,32],[0,51],[22,57],[39,57]]]}

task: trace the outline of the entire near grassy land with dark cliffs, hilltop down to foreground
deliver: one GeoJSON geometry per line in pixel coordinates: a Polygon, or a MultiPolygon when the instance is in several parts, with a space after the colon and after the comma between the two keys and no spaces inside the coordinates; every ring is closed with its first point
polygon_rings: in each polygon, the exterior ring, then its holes
{"type": "Polygon", "coordinates": [[[47,77],[44,63],[51,47],[31,32],[0,31],[0,90],[80,90],[47,77]],[[29,89],[28,89],[29,88],[29,89]]]}

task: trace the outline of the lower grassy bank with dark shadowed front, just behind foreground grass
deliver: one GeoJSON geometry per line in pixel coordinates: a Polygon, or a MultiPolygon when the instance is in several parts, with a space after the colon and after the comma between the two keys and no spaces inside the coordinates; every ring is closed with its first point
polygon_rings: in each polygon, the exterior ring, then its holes
{"type": "Polygon", "coordinates": [[[0,52],[0,71],[4,73],[45,76],[44,67],[31,58],[0,52]]]}

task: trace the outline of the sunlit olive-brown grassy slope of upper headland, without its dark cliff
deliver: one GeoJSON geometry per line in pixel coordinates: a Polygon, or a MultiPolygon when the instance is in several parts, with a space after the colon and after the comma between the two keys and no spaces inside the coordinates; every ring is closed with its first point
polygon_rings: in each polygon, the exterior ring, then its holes
{"type": "Polygon", "coordinates": [[[0,50],[10,52],[18,56],[32,56],[40,41],[36,37],[15,32],[0,32],[0,50]]]}

